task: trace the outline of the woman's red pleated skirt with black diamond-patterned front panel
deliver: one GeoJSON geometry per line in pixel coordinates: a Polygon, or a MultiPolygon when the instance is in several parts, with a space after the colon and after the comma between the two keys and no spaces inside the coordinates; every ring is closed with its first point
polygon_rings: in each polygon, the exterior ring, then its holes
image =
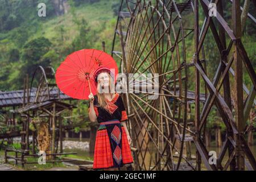
{"type": "Polygon", "coordinates": [[[93,169],[120,168],[133,163],[124,127],[118,120],[101,122],[96,134],[93,169]]]}

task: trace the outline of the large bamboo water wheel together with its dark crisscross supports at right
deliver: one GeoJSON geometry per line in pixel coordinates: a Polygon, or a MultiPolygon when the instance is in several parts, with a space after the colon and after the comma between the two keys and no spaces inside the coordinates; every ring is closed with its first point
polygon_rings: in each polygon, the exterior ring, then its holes
{"type": "MultiPolygon", "coordinates": [[[[245,166],[249,170],[256,170],[255,157],[243,133],[246,118],[255,102],[256,74],[241,42],[239,19],[242,7],[239,1],[230,1],[232,10],[227,10],[232,14],[229,20],[233,26],[230,28],[224,19],[222,7],[226,1],[214,1],[218,9],[216,17],[208,14],[210,2],[121,2],[112,56],[121,61],[119,72],[129,78],[129,81],[123,83],[129,91],[123,94],[123,99],[129,117],[132,145],[138,149],[134,152],[135,169],[201,170],[203,162],[208,170],[244,170],[245,166]],[[201,28],[199,5],[205,15],[201,28]],[[188,11],[192,12],[195,20],[192,27],[185,27],[189,23],[184,23],[183,16],[188,11]],[[221,57],[214,78],[207,74],[206,50],[203,46],[207,41],[206,35],[210,34],[208,30],[213,35],[221,57]],[[186,38],[191,33],[194,35],[190,37],[194,39],[194,55],[188,55],[189,51],[186,51],[186,38]],[[226,39],[230,39],[228,46],[226,39]],[[231,67],[233,60],[236,63],[235,71],[231,67]],[[242,63],[250,76],[250,91],[242,83],[245,74],[241,69],[242,63]],[[195,73],[195,77],[189,77],[188,69],[190,73],[195,73]],[[226,76],[229,72],[234,76],[236,88],[230,84],[233,77],[226,76]],[[152,80],[148,74],[151,74],[151,78],[157,78],[157,81],[152,80]],[[188,82],[195,84],[195,91],[188,90],[188,82]],[[148,89],[148,85],[154,85],[156,89],[148,89]],[[200,93],[202,89],[205,93],[200,93]],[[236,107],[231,105],[230,90],[235,92],[236,107]],[[242,99],[243,94],[246,95],[245,100],[242,99]],[[191,109],[191,105],[195,109],[191,109]],[[204,144],[207,118],[213,105],[226,127],[225,142],[216,164],[209,163],[209,151],[204,144]],[[233,113],[232,109],[235,110],[233,113]],[[191,141],[195,144],[196,161],[192,160],[189,152],[191,141]],[[224,161],[227,153],[229,158],[224,161]]],[[[247,16],[256,23],[253,16],[249,13],[247,16]]]]}

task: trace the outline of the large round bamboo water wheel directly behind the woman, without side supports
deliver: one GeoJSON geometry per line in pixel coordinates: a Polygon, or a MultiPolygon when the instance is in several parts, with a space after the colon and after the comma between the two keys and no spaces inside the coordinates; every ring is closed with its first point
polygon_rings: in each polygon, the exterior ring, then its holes
{"type": "Polygon", "coordinates": [[[120,7],[112,55],[121,58],[121,72],[137,75],[129,81],[131,93],[125,99],[138,148],[137,169],[176,169],[181,160],[193,167],[183,155],[184,140],[192,133],[187,127],[185,38],[193,29],[183,27],[181,13],[190,7],[190,1],[179,6],[172,1],[123,1],[120,7]],[[159,92],[145,89],[148,83],[159,92]]]}

